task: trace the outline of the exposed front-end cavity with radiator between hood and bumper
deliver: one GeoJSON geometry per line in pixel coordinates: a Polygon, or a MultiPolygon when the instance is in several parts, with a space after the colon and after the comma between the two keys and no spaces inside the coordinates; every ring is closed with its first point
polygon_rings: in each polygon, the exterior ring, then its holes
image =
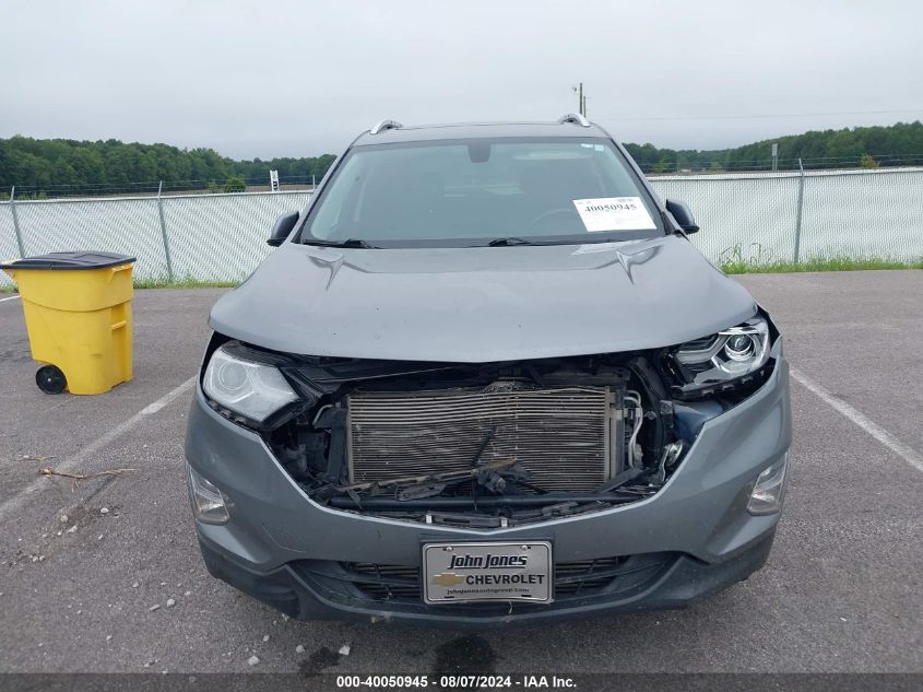
{"type": "Polygon", "coordinates": [[[297,390],[296,401],[253,427],[312,500],[470,528],[654,495],[701,425],[771,370],[742,379],[736,391],[707,388],[707,398],[690,400],[663,366],[665,351],[469,364],[217,345],[274,365],[297,390]]]}

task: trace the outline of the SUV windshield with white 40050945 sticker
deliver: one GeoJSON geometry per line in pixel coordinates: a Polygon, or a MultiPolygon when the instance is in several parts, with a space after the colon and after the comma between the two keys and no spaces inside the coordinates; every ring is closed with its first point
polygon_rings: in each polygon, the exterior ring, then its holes
{"type": "Polygon", "coordinates": [[[603,138],[355,146],[320,195],[304,243],[582,244],[662,233],[649,192],[603,138]]]}

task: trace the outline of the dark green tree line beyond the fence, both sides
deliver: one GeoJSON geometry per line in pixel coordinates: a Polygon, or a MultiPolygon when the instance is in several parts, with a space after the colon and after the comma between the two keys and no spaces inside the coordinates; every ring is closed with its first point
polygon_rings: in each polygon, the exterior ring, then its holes
{"type": "MultiPolygon", "coordinates": [[[[923,124],[898,122],[889,127],[857,127],[810,131],[722,150],[674,150],[653,144],[626,144],[646,173],[676,171],[760,169],[771,165],[771,145],[779,146],[779,167],[794,168],[801,157],[806,167],[923,165],[923,124]]],[[[169,144],[95,142],[29,137],[0,139],[0,190],[17,188],[92,193],[163,180],[170,189],[212,188],[242,190],[250,184],[269,184],[270,169],[280,177],[320,179],[333,163],[332,154],[235,161],[212,149],[179,149],[169,144]]],[[[142,190],[138,190],[142,191],[142,190]]]]}

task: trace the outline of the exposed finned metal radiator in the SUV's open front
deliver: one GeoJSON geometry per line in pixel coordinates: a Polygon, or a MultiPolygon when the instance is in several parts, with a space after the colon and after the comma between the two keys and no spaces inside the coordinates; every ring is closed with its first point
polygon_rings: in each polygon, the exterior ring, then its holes
{"type": "Polygon", "coordinates": [[[620,424],[615,401],[608,387],[502,382],[486,389],[354,391],[348,398],[352,480],[463,471],[489,436],[481,461],[516,461],[542,490],[591,492],[615,468],[611,447],[619,447],[622,438],[612,430],[620,424]]]}

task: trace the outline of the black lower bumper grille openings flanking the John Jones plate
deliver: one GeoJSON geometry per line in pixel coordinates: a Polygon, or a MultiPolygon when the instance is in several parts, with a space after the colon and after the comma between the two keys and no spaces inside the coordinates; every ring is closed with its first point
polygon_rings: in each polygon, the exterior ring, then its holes
{"type": "MultiPolygon", "coordinates": [[[[648,553],[559,562],[555,564],[555,600],[637,588],[655,578],[675,558],[675,553],[648,553]]],[[[423,600],[419,567],[344,562],[336,572],[370,600],[423,600]]]]}

